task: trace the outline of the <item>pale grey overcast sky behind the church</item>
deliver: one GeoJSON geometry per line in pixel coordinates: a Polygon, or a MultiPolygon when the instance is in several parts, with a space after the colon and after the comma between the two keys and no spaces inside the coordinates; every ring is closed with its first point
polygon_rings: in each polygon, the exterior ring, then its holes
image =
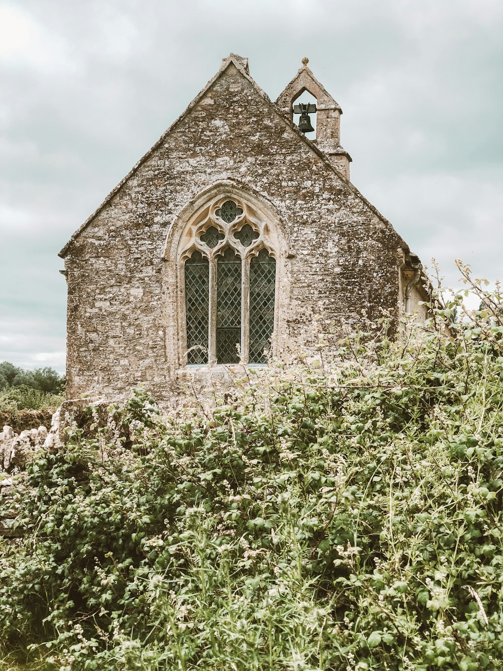
{"type": "Polygon", "coordinates": [[[229,52],[272,99],[308,56],[353,184],[501,277],[502,36],[501,0],[0,0],[0,360],[64,370],[58,251],[229,52]]]}

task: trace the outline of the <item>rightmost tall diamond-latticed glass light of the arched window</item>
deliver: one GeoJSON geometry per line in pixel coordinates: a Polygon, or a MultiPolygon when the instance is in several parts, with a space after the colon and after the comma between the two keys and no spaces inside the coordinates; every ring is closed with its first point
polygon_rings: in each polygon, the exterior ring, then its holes
{"type": "Polygon", "coordinates": [[[276,260],[261,250],[249,263],[249,362],[265,364],[274,327],[276,260]]]}

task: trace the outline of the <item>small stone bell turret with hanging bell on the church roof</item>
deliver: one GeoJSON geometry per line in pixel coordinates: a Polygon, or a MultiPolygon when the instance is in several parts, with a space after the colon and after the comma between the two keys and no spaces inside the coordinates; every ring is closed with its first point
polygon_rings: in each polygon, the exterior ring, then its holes
{"type": "Polygon", "coordinates": [[[292,81],[280,93],[276,105],[290,115],[292,120],[294,120],[295,114],[300,114],[299,127],[302,132],[305,132],[304,128],[308,127],[308,114],[316,111],[316,140],[313,140],[313,142],[316,142],[317,146],[327,154],[334,168],[349,180],[351,156],[341,147],[340,142],[342,109],[316,79],[307,66],[308,63],[308,58],[302,58],[302,68],[298,70],[292,81]],[[311,93],[316,98],[316,109],[313,109],[314,105],[294,105],[304,91],[311,93]],[[309,109],[305,109],[306,107],[309,107],[309,109]]]}

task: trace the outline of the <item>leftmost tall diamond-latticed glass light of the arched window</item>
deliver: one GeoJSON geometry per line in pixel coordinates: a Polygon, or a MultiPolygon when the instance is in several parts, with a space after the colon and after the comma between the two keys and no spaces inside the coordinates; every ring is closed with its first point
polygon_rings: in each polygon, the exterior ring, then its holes
{"type": "Polygon", "coordinates": [[[187,363],[208,363],[209,262],[194,252],[185,262],[187,363]]]}

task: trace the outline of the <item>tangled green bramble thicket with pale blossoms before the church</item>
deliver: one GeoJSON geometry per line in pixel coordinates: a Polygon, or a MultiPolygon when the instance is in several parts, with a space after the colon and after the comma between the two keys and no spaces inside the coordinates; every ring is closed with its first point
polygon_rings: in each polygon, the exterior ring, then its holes
{"type": "Polygon", "coordinates": [[[456,296],[395,342],[323,336],[212,411],[140,389],[38,452],[4,668],[502,668],[502,295],[473,286],[470,323],[456,296]]]}

